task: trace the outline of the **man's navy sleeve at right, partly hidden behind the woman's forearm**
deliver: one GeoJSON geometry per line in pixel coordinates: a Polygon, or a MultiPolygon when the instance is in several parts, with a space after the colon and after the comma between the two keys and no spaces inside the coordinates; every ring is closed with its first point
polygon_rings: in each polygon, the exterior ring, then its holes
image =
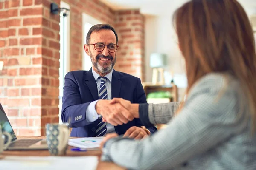
{"type": "MultiPolygon", "coordinates": [[[[137,93],[134,103],[147,103],[146,94],[139,78],[137,80],[137,93]]],[[[154,125],[144,125],[140,119],[135,119],[135,125],[137,127],[145,126],[151,134],[157,131],[157,128],[154,125]]]]}

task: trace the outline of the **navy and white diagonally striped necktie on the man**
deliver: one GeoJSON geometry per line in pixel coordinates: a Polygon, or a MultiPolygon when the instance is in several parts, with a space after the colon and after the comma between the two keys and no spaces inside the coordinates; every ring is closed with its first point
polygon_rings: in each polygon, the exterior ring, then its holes
{"type": "MultiPolygon", "coordinates": [[[[99,87],[99,99],[108,99],[108,92],[106,88],[106,77],[100,78],[100,87],[99,87]]],[[[102,122],[102,116],[98,120],[97,130],[95,131],[95,136],[104,136],[107,132],[107,123],[102,122]]]]}

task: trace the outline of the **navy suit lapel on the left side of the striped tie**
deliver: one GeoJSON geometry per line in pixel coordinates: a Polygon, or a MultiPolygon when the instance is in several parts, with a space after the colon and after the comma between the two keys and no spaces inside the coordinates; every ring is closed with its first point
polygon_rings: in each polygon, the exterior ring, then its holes
{"type": "Polygon", "coordinates": [[[97,90],[97,83],[93,77],[92,68],[84,74],[84,83],[90,89],[93,99],[98,100],[99,95],[98,95],[98,90],[97,90]]]}

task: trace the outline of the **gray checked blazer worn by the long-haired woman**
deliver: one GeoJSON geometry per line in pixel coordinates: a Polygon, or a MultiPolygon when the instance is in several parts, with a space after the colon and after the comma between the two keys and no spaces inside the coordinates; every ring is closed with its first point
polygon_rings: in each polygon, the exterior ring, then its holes
{"type": "Polygon", "coordinates": [[[256,170],[256,133],[240,89],[231,76],[207,74],[177,116],[179,103],[146,105],[150,123],[167,127],[141,141],[110,139],[101,160],[134,170],[256,170]]]}

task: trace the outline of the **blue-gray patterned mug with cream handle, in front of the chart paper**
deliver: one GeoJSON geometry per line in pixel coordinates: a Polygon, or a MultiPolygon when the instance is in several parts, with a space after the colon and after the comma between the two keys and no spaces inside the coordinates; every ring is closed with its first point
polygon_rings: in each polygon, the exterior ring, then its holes
{"type": "Polygon", "coordinates": [[[68,123],[48,123],[46,128],[46,142],[51,155],[65,155],[69,139],[68,123]]]}

